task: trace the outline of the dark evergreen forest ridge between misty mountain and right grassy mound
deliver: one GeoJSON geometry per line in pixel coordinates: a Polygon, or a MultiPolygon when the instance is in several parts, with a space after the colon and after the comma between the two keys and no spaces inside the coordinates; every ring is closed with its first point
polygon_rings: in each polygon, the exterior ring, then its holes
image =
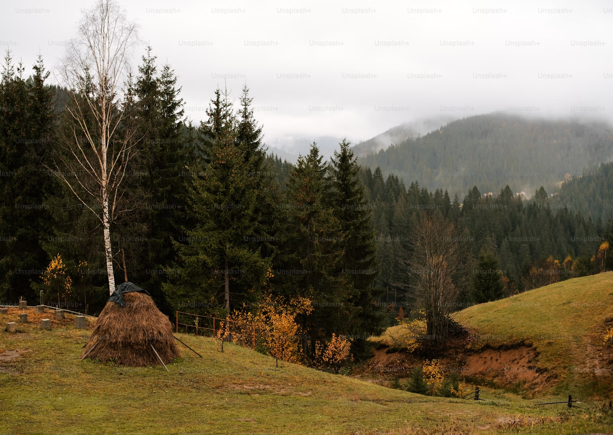
{"type": "Polygon", "coordinates": [[[530,199],[515,195],[508,186],[492,195],[473,186],[452,199],[442,189],[428,191],[417,182],[406,187],[394,175],[384,178],[379,168],[372,172],[363,167],[360,178],[373,211],[381,261],[375,285],[386,289],[381,302],[396,310],[412,304],[402,259],[411,255],[414,230],[424,215],[439,214],[452,221],[457,229],[454,241],[471,252],[471,282],[459,299],[459,309],[613,267],[600,249],[604,241],[613,245],[613,221],[594,221],[559,206],[543,187],[528,194],[530,199]],[[481,294],[483,276],[494,278],[489,290],[497,287],[496,294],[481,294]]]}

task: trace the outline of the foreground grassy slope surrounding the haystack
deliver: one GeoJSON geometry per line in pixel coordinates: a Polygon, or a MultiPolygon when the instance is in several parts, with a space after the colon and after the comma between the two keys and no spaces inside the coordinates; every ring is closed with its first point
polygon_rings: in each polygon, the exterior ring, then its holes
{"type": "MultiPolygon", "coordinates": [[[[505,403],[430,398],[322,373],[212,339],[180,337],[203,358],[181,347],[168,365],[128,368],[80,361],[88,330],[74,319],[52,320],[53,330],[31,323],[17,334],[0,331],[0,433],[25,434],[416,434],[499,433],[508,429],[539,434],[574,433],[576,428],[613,429],[596,411],[558,406],[484,388],[505,403]],[[493,405],[493,406],[492,406],[493,405]]],[[[48,315],[48,314],[47,314],[48,315]]],[[[16,320],[17,309],[0,315],[16,320]]]]}

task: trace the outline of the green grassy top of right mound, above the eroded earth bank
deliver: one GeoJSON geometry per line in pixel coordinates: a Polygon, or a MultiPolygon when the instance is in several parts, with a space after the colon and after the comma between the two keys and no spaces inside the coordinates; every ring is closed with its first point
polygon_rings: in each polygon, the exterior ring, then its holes
{"type": "Polygon", "coordinates": [[[613,355],[603,346],[603,335],[613,320],[613,273],[475,305],[456,319],[476,331],[477,346],[532,344],[539,369],[554,381],[554,392],[611,393],[613,355]]]}

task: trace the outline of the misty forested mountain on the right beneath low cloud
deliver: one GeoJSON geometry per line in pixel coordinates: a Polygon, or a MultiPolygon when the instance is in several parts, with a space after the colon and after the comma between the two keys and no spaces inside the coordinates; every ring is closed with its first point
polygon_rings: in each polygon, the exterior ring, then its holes
{"type": "Polygon", "coordinates": [[[475,185],[482,192],[500,192],[507,184],[531,196],[541,185],[554,192],[566,174],[579,175],[611,159],[612,139],[613,130],[604,124],[492,113],[408,138],[360,163],[460,198],[475,185]]]}

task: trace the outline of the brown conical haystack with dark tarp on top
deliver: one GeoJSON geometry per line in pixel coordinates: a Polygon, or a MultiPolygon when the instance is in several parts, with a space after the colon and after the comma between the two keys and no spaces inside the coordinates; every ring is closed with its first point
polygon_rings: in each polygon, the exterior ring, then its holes
{"type": "Polygon", "coordinates": [[[96,320],[82,357],[133,367],[160,365],[151,345],[166,364],[179,356],[168,317],[144,290],[124,282],[96,320]]]}

